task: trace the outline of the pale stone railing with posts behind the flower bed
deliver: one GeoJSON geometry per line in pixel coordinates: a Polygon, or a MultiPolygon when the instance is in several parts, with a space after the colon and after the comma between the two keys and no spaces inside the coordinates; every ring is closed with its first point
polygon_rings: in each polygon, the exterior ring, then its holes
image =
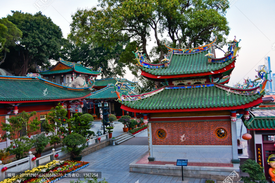
{"type": "MultiPolygon", "coordinates": [[[[88,145],[86,149],[82,151],[82,154],[87,154],[85,151],[91,149],[93,146],[97,146],[98,144],[104,143],[106,141],[109,141],[109,135],[106,133],[105,135],[101,135],[99,137],[95,137],[93,139],[88,140],[85,145],[88,145]],[[100,139],[100,142],[98,140],[100,139]]],[[[80,147],[80,146],[79,146],[80,147]]],[[[20,172],[24,172],[26,170],[31,170],[34,167],[38,167],[39,165],[45,165],[52,160],[57,160],[57,159],[66,159],[66,157],[70,157],[69,153],[66,153],[65,151],[59,150],[55,151],[55,149],[52,149],[52,152],[45,155],[41,156],[39,158],[36,158],[36,160],[33,160],[35,156],[32,154],[32,152],[29,152],[28,157],[23,158],[21,160],[14,161],[12,163],[8,163],[3,165],[2,161],[0,161],[0,181],[3,181],[5,178],[11,178],[9,175],[17,175],[20,172]],[[55,155],[58,154],[58,157],[55,157],[55,155]],[[2,168],[7,167],[8,169],[6,171],[2,171],[2,168]]]]}

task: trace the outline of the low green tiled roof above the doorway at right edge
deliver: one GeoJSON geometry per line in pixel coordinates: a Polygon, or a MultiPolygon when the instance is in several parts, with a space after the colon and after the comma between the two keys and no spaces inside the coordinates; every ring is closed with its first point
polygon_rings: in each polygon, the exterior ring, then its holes
{"type": "Polygon", "coordinates": [[[275,129],[275,116],[251,116],[248,121],[244,121],[244,125],[249,130],[275,129]]]}

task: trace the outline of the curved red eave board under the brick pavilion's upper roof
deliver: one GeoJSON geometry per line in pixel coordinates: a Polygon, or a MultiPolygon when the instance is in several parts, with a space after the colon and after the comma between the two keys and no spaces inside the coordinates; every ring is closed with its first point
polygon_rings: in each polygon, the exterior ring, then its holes
{"type": "Polygon", "coordinates": [[[192,74],[177,74],[177,75],[154,75],[154,74],[149,74],[145,72],[144,70],[141,70],[141,75],[144,77],[148,78],[154,78],[154,79],[167,79],[167,78],[175,78],[175,77],[194,77],[194,76],[208,76],[212,74],[219,74],[226,72],[232,68],[235,67],[236,61],[234,60],[232,63],[230,63],[228,66],[223,67],[222,69],[215,70],[215,71],[210,71],[210,72],[202,72],[202,73],[192,73],[192,74]]]}

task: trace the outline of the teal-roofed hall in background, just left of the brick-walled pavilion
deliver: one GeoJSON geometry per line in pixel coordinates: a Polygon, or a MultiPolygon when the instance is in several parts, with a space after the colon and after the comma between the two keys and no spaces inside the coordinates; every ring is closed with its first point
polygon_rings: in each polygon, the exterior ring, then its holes
{"type": "MultiPolygon", "coordinates": [[[[127,79],[120,78],[108,78],[108,79],[98,79],[91,82],[93,85],[93,91],[90,96],[86,97],[86,102],[88,106],[88,113],[97,115],[102,113],[99,111],[97,101],[104,101],[109,103],[109,113],[116,116],[126,115],[127,111],[120,109],[121,104],[118,102],[118,97],[116,95],[116,84],[122,84],[122,87],[118,90],[120,93],[125,95],[134,94],[134,88],[137,86],[137,82],[128,81],[127,79]]],[[[128,112],[129,113],[129,112],[128,112]]],[[[135,117],[135,113],[130,112],[130,116],[135,117]]],[[[98,116],[98,115],[97,115],[98,116]]],[[[99,117],[98,117],[99,118],[99,117]]]]}

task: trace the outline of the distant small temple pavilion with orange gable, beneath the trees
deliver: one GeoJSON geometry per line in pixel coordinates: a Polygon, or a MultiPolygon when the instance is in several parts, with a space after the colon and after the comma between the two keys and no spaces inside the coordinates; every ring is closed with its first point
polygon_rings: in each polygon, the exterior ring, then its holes
{"type": "Polygon", "coordinates": [[[80,62],[72,63],[59,58],[57,64],[49,70],[38,68],[37,71],[48,81],[68,86],[76,77],[81,77],[85,82],[90,77],[97,77],[101,74],[101,67],[94,71],[93,67],[86,68],[80,62]]]}

